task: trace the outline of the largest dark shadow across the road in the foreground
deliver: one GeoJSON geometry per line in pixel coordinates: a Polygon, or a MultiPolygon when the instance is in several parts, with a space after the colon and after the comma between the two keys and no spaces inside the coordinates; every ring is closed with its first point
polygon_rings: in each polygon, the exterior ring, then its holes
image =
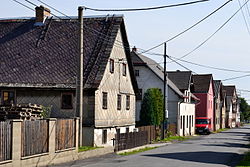
{"type": "Polygon", "coordinates": [[[236,160],[238,162],[241,159],[241,155],[237,153],[213,152],[213,151],[149,154],[144,156],[209,163],[209,164],[222,164],[228,166],[234,164],[232,163],[232,160],[233,161],[236,160]]]}

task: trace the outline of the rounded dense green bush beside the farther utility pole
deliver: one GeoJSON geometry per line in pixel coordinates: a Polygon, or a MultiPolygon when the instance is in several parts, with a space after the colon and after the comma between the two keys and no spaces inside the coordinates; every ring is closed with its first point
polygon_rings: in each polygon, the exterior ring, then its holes
{"type": "Polygon", "coordinates": [[[163,95],[158,88],[148,89],[143,97],[141,125],[160,125],[163,121],[163,95]]]}

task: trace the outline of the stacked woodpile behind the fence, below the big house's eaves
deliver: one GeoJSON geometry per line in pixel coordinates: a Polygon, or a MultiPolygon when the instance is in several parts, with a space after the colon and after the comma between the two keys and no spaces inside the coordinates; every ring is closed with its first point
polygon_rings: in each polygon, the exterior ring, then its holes
{"type": "Polygon", "coordinates": [[[0,120],[22,119],[34,120],[41,119],[42,106],[37,104],[12,104],[0,105],[0,120]]]}

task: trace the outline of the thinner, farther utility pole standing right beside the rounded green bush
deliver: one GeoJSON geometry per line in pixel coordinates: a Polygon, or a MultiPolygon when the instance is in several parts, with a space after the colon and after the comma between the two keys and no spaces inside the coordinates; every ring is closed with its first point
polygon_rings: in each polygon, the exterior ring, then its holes
{"type": "Polygon", "coordinates": [[[163,83],[163,122],[162,122],[162,139],[165,138],[165,120],[166,120],[166,88],[167,88],[167,44],[164,43],[164,83],[163,83]]]}

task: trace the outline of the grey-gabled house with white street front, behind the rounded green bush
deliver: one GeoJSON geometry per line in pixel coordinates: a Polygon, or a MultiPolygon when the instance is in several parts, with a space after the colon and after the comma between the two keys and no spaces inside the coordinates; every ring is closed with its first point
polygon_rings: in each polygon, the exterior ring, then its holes
{"type": "MultiPolygon", "coordinates": [[[[135,76],[138,83],[140,95],[136,102],[136,121],[140,121],[141,102],[143,95],[149,88],[159,88],[163,92],[164,87],[164,70],[154,60],[143,56],[136,52],[134,48],[131,52],[131,57],[134,65],[135,76]]],[[[188,83],[187,83],[188,84],[188,83]]],[[[186,105],[189,103],[191,94],[185,96],[178,87],[167,79],[167,117],[168,117],[168,128],[174,134],[189,135],[194,132],[194,113],[192,111],[194,105],[186,105]],[[181,116],[186,118],[188,122],[181,123],[181,116]]]]}

